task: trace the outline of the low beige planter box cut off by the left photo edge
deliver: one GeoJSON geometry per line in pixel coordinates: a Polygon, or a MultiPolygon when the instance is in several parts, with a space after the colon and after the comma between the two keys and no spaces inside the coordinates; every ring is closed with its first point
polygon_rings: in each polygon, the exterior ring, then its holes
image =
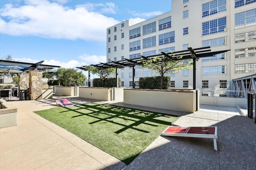
{"type": "Polygon", "coordinates": [[[17,125],[17,108],[0,99],[3,103],[0,109],[0,128],[17,125]]]}

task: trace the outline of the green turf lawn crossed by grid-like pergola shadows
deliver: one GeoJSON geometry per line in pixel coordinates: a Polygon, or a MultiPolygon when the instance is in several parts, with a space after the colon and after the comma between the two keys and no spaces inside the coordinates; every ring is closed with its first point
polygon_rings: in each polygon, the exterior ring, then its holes
{"type": "Polygon", "coordinates": [[[100,102],[35,113],[126,164],[179,118],[100,102]]]}

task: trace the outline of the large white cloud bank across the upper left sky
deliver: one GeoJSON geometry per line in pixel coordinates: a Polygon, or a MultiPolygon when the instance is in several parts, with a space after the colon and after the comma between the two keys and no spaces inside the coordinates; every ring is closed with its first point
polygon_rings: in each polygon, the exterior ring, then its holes
{"type": "Polygon", "coordinates": [[[106,29],[120,22],[100,14],[113,13],[117,7],[112,3],[100,4],[98,12],[90,12],[87,9],[90,4],[72,9],[47,0],[28,0],[25,3],[18,7],[6,4],[0,10],[1,33],[105,42],[106,29]]]}

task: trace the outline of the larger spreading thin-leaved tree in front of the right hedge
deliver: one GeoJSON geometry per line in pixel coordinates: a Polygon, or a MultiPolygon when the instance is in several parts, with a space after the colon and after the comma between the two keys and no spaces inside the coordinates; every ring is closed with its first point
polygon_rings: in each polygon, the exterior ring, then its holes
{"type": "Polygon", "coordinates": [[[142,59],[146,60],[142,61],[142,68],[149,68],[150,70],[153,70],[154,72],[157,72],[161,75],[160,89],[163,88],[163,79],[165,73],[176,73],[180,72],[180,70],[182,69],[189,70],[193,67],[193,63],[191,62],[191,60],[182,60],[182,57],[179,57],[177,59],[175,58],[176,60],[170,60],[165,57],[154,57],[153,59],[144,59],[142,57],[142,59]]]}

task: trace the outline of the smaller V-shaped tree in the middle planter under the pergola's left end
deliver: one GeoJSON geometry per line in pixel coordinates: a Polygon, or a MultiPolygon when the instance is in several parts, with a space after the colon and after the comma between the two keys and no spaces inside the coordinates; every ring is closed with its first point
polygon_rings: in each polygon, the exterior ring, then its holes
{"type": "Polygon", "coordinates": [[[109,74],[115,74],[116,68],[96,68],[94,66],[85,66],[86,70],[96,74],[102,78],[102,87],[104,87],[105,79],[109,74]]]}

